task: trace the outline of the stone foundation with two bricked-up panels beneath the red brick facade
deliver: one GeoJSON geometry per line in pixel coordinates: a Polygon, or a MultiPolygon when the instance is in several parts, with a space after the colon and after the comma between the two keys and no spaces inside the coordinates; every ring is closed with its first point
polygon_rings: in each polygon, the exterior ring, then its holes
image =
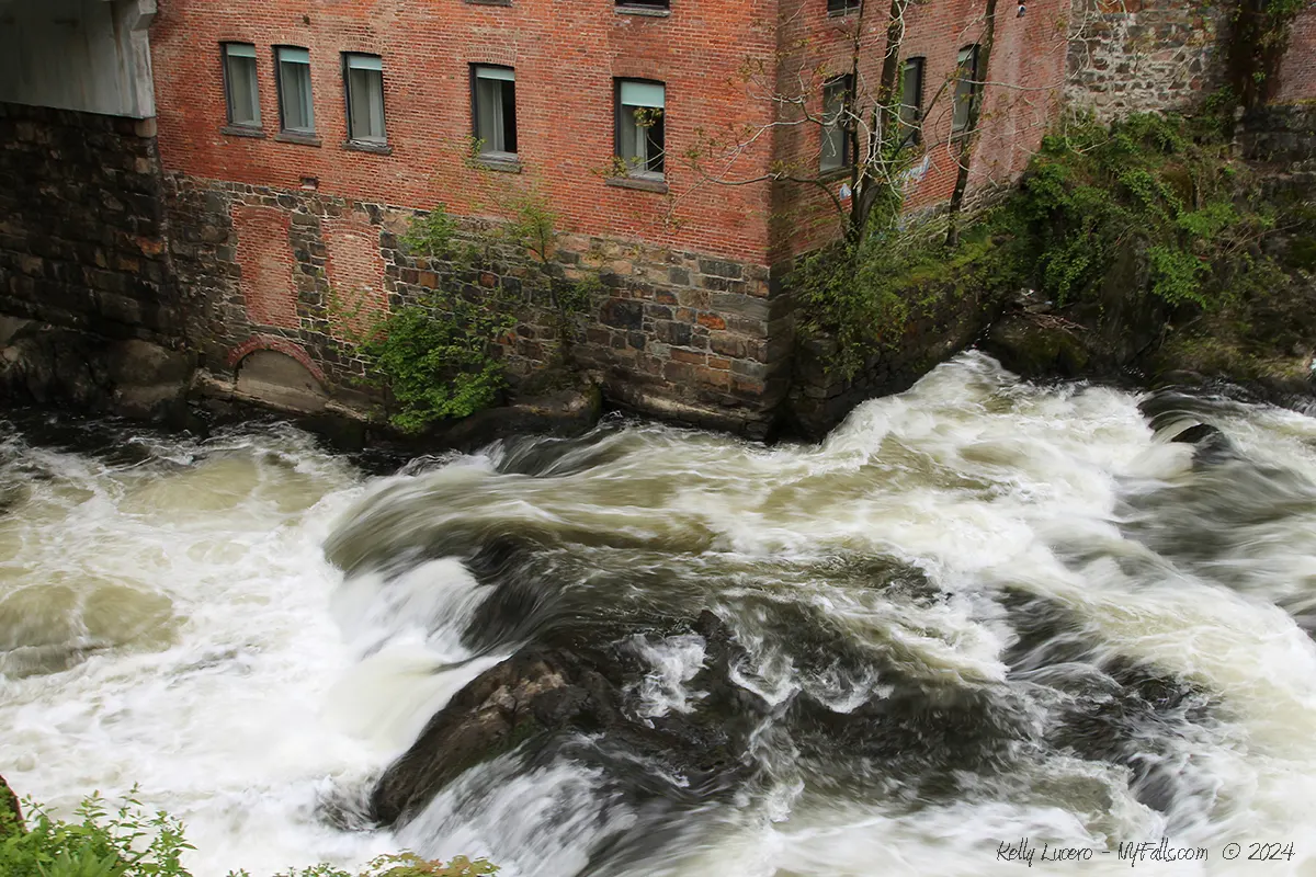
{"type": "MultiPolygon", "coordinates": [[[[562,234],[544,283],[524,254],[459,266],[401,246],[415,210],[322,195],[170,175],[170,254],[188,289],[188,338],[213,375],[257,350],[292,356],[350,402],[379,400],[351,338],[386,308],[434,288],[519,304],[501,344],[513,385],[559,359],[549,283],[594,273],[600,292],[570,352],[615,404],[750,435],[784,396],[792,339],[786,300],[765,267],[632,242],[562,234]]],[[[467,237],[479,222],[466,222],[467,237]]]]}

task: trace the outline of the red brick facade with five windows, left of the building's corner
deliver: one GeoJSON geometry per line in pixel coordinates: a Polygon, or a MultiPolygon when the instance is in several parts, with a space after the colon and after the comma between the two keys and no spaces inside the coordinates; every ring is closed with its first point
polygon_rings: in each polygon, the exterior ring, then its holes
{"type": "MultiPolygon", "coordinates": [[[[763,187],[700,187],[679,155],[700,126],[767,121],[766,108],[734,83],[746,59],[770,62],[775,13],[776,0],[682,0],[666,17],[549,0],[171,0],[151,29],[161,150],[166,170],[203,179],[297,189],[316,178],[338,197],[422,209],[442,201],[462,216],[495,213],[503,196],[533,183],[572,231],[761,262],[763,187]],[[221,41],[257,47],[261,137],[221,130],[221,41]],[[276,137],[276,45],[311,51],[318,146],[276,137]],[[390,154],[345,143],[342,51],[383,58],[390,154]],[[516,68],[520,174],[478,175],[462,160],[472,63],[516,68]],[[613,154],[615,76],[666,83],[671,197],[603,179],[613,154]]],[[[738,170],[763,170],[770,158],[765,145],[738,170]]]]}

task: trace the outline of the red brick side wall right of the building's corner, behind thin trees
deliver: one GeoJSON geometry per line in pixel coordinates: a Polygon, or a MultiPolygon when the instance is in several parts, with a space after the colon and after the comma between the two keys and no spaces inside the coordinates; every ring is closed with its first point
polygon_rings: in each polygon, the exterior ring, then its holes
{"type": "MultiPolygon", "coordinates": [[[[787,0],[800,5],[800,0],[787,0]]],[[[794,5],[791,8],[795,8],[794,5]]],[[[780,34],[783,64],[782,93],[794,93],[800,76],[804,91],[813,99],[812,112],[821,110],[822,79],[845,72],[859,20],[855,14],[792,16],[780,34]],[[815,74],[813,71],[821,71],[815,74]]],[[[983,92],[979,137],[969,179],[970,200],[975,193],[1013,180],[1041,143],[1046,128],[1055,118],[1066,76],[1065,14],[1069,0],[1037,0],[1028,5],[1024,17],[1017,4],[1003,3],[998,11],[995,46],[991,55],[988,84],[983,92]]],[[[871,103],[880,78],[886,51],[886,7],[880,13],[869,12],[859,36],[861,91],[871,103]]],[[[982,4],[975,0],[932,0],[912,5],[907,12],[901,58],[924,59],[923,154],[905,176],[907,209],[917,210],[945,202],[955,187],[959,172],[959,139],[954,137],[953,95],[959,50],[983,38],[982,4]]],[[[779,137],[784,162],[799,167],[804,175],[817,174],[821,131],[816,124],[804,124],[779,137]]],[[[840,195],[849,176],[838,174],[829,181],[840,195]]],[[[849,209],[849,202],[842,202],[849,209]]],[[[776,224],[770,260],[775,264],[792,255],[807,252],[836,237],[841,227],[836,202],[812,184],[780,184],[774,192],[776,224]]]]}

